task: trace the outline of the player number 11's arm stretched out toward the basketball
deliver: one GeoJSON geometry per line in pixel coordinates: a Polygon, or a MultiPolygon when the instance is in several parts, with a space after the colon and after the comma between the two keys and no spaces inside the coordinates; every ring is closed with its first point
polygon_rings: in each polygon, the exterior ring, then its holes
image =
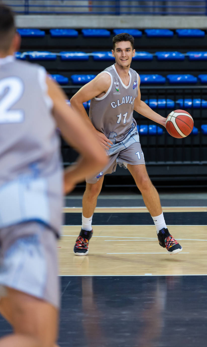
{"type": "Polygon", "coordinates": [[[153,120],[154,122],[163,125],[165,127],[166,118],[154,112],[144,101],[141,100],[140,93],[140,76],[138,81],[138,96],[134,100],[134,110],[140,113],[140,115],[153,120]]]}

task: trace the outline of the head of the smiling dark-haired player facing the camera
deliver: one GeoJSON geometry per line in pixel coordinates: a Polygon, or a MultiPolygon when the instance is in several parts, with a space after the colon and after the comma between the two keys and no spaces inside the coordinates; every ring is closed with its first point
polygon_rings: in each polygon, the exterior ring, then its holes
{"type": "Polygon", "coordinates": [[[121,33],[113,37],[112,55],[117,65],[123,68],[130,67],[134,54],[134,37],[132,35],[121,33]]]}

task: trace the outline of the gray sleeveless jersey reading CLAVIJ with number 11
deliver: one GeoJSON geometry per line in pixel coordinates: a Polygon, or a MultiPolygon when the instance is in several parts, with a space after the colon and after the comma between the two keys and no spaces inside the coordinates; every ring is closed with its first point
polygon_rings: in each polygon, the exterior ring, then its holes
{"type": "Polygon", "coordinates": [[[125,86],[115,65],[106,68],[102,73],[110,75],[111,85],[102,98],[91,100],[89,117],[94,127],[116,144],[123,141],[137,126],[133,110],[134,100],[138,96],[138,74],[130,68],[130,82],[125,86]]]}

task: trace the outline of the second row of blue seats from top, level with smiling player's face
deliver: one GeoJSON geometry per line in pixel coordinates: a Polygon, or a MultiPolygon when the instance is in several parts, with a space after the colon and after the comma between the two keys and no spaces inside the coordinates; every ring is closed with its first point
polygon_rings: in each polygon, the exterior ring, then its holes
{"type": "MultiPolygon", "coordinates": [[[[28,56],[30,60],[56,60],[57,56],[60,56],[61,60],[88,60],[89,56],[92,55],[94,60],[112,60],[112,52],[60,52],[53,53],[48,51],[28,51],[28,52],[16,52],[16,58],[25,60],[28,56]]],[[[207,51],[205,52],[187,52],[186,54],[177,51],[174,52],[155,52],[154,54],[149,52],[135,52],[133,60],[152,60],[153,56],[156,56],[158,60],[184,60],[185,56],[189,60],[207,60],[207,51]]]]}

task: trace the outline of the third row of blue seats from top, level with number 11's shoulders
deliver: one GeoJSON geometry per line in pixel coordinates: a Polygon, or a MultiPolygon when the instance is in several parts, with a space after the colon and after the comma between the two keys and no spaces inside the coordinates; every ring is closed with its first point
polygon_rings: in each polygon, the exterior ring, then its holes
{"type": "MultiPolygon", "coordinates": [[[[69,79],[59,74],[51,75],[59,84],[68,84],[69,79]]],[[[96,75],[71,75],[73,84],[86,84],[96,77],[96,75]]],[[[207,83],[207,75],[198,75],[201,83],[207,83]]],[[[198,78],[189,74],[170,74],[167,79],[170,84],[196,84],[198,78]]],[[[165,84],[166,78],[161,75],[142,75],[140,74],[140,82],[142,84],[165,84]]]]}

